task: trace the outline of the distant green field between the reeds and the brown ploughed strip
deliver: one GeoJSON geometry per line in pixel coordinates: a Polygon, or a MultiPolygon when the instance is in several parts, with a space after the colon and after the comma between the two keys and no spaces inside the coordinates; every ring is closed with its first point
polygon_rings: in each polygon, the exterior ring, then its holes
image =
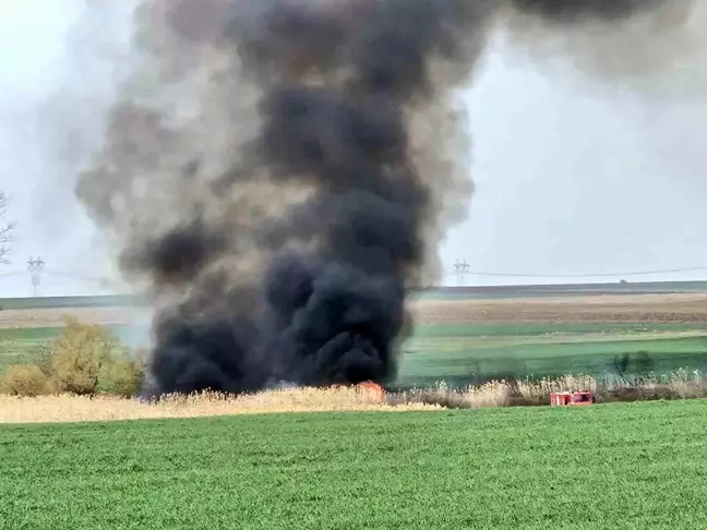
{"type": "MultiPolygon", "coordinates": [[[[147,329],[116,327],[128,344],[147,329]]],[[[58,328],[0,330],[0,372],[32,356],[58,328]]],[[[398,384],[481,383],[510,376],[567,373],[599,376],[614,359],[646,352],[631,370],[667,373],[682,368],[707,371],[707,324],[468,324],[420,325],[403,347],[398,384]]]]}

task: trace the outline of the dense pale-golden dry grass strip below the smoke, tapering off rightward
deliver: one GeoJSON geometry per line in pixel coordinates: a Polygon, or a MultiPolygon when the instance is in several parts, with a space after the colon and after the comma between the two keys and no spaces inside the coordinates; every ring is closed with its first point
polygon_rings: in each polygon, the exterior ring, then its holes
{"type": "Polygon", "coordinates": [[[71,395],[23,398],[0,395],[0,423],[45,423],[139,420],[156,418],[199,418],[275,412],[325,412],[345,410],[435,410],[439,405],[392,405],[375,392],[356,388],[287,388],[251,395],[201,394],[168,396],[145,402],[113,396],[71,395]]]}

